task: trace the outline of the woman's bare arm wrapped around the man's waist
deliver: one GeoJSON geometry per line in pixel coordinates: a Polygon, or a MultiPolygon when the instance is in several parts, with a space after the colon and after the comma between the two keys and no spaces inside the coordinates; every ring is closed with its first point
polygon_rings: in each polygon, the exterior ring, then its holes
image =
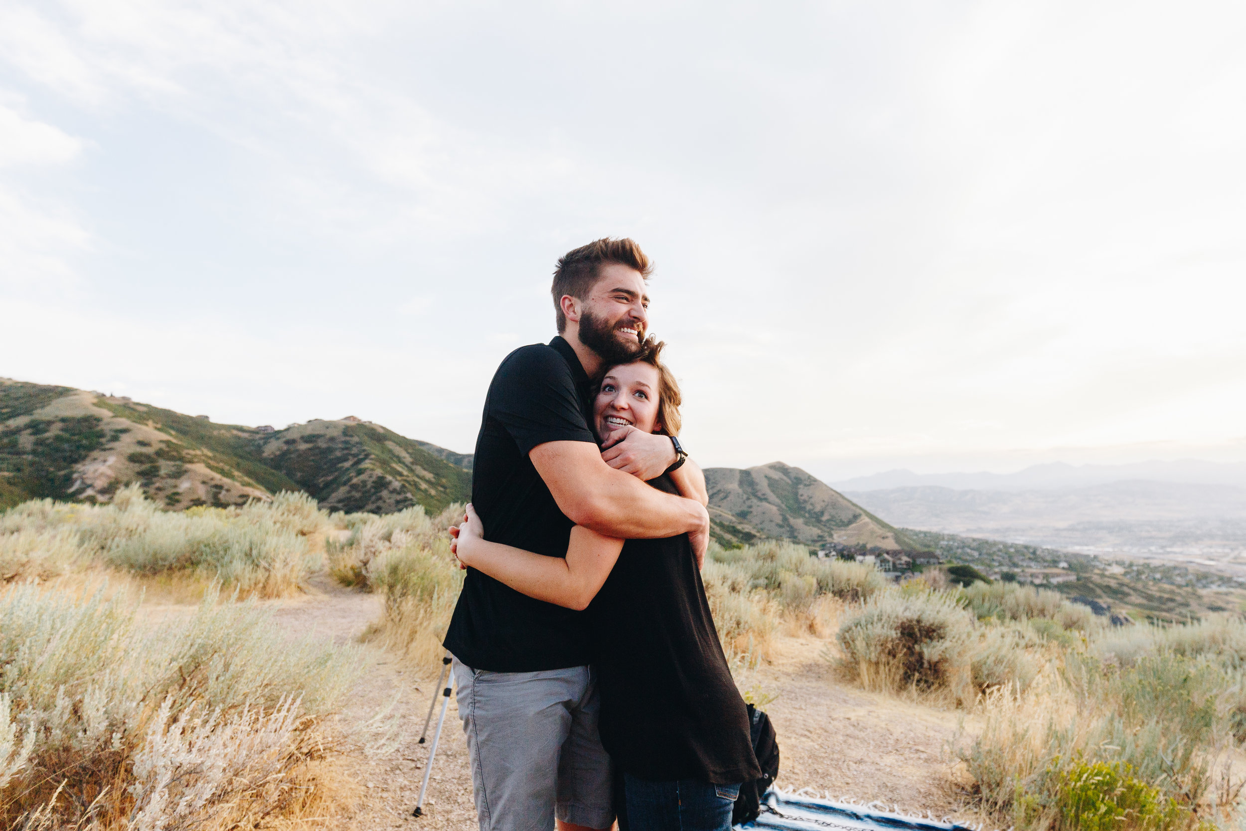
{"type": "Polygon", "coordinates": [[[490,542],[470,505],[465,522],[450,533],[456,537],[450,549],[465,567],[471,566],[528,597],[577,610],[588,608],[597,597],[623,551],[622,539],[581,526],[571,529],[566,559],[490,542]]]}

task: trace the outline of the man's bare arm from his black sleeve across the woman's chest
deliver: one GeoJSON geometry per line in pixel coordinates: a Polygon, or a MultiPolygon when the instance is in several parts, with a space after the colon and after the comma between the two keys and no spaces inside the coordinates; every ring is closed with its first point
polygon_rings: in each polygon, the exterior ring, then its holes
{"type": "Polygon", "coordinates": [[[705,506],[649,487],[602,461],[587,441],[547,441],[528,453],[554,502],[572,522],[621,539],[689,533],[698,557],[709,544],[705,506]]]}

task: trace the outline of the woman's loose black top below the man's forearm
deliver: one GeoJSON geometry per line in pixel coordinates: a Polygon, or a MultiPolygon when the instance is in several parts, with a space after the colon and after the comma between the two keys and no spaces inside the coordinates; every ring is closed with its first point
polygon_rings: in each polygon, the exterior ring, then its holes
{"type": "MultiPolygon", "coordinates": [[[[650,485],[678,493],[667,476],[650,485]]],[[[688,534],[628,539],[588,614],[602,744],[622,770],[720,785],[761,775],[688,534]]]]}

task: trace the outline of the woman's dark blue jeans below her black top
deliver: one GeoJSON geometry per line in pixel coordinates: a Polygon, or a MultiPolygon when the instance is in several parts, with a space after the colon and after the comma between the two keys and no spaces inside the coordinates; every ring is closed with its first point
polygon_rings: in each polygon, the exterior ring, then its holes
{"type": "Polygon", "coordinates": [[[740,786],[697,779],[649,782],[623,774],[619,831],[729,831],[740,786]]]}

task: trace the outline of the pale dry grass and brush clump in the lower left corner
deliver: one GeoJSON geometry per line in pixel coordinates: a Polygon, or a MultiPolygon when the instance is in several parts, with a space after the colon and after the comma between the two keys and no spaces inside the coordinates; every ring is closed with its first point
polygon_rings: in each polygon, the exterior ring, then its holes
{"type": "MultiPolygon", "coordinates": [[[[310,799],[320,718],[358,658],[285,642],[254,604],[208,597],[142,625],[120,594],[0,593],[5,827],[191,829],[310,799]]],[[[313,789],[314,790],[314,789],[313,789]]]]}

